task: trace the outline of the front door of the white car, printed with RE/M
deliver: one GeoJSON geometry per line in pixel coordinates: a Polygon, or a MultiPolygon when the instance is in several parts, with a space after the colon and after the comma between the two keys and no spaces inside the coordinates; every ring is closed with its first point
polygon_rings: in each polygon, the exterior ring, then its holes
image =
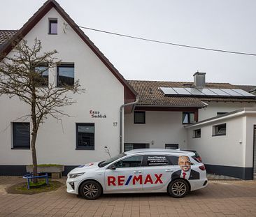
{"type": "Polygon", "coordinates": [[[142,191],[142,159],[142,155],[128,156],[107,168],[105,171],[106,192],[142,191]]]}

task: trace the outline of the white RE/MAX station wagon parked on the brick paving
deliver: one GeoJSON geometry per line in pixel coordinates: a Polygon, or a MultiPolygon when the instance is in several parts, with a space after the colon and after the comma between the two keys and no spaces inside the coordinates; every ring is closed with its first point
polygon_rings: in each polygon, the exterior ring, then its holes
{"type": "Polygon", "coordinates": [[[87,200],[102,193],[167,192],[173,197],[207,186],[206,169],[190,151],[134,149],[71,170],[66,191],[87,200]]]}

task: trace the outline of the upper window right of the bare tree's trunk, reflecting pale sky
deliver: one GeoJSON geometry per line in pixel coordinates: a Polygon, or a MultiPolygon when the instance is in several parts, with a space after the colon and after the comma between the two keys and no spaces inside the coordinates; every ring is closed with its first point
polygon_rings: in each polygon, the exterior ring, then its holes
{"type": "Polygon", "coordinates": [[[74,64],[61,64],[57,66],[57,87],[72,86],[75,81],[74,64]]]}

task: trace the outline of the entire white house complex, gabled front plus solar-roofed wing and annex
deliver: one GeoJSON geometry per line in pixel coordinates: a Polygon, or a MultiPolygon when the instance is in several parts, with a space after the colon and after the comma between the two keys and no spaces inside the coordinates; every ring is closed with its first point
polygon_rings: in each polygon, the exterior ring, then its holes
{"type": "MultiPolygon", "coordinates": [[[[19,36],[29,44],[41,40],[42,52],[58,51],[62,64],[49,70],[49,82],[57,86],[65,67],[86,89],[64,107],[71,117],[62,123],[49,117],[41,126],[38,163],[64,164],[68,172],[108,158],[104,147],[112,156],[137,148],[196,149],[209,171],[253,178],[256,98],[246,92],[250,87],[208,83],[198,72],[194,82],[126,81],[54,0],[19,31],[0,31],[0,53],[13,55],[11,42],[19,36]]],[[[0,175],[24,174],[31,164],[30,123],[20,117],[28,107],[6,96],[0,105],[0,175]]]]}

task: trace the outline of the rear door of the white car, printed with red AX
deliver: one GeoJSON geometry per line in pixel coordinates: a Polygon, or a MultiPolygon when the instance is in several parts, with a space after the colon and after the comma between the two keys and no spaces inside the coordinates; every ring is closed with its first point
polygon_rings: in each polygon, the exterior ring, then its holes
{"type": "Polygon", "coordinates": [[[152,154],[143,158],[143,190],[166,188],[171,181],[171,174],[178,167],[171,163],[169,156],[152,154]]]}

